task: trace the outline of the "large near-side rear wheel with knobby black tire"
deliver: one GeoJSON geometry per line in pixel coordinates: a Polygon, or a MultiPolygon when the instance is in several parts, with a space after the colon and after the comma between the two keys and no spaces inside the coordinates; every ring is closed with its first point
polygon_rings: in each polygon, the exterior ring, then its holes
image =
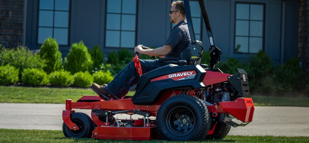
{"type": "Polygon", "coordinates": [[[175,95],[162,103],[155,122],[165,140],[203,140],[210,129],[210,113],[200,99],[175,95]]]}

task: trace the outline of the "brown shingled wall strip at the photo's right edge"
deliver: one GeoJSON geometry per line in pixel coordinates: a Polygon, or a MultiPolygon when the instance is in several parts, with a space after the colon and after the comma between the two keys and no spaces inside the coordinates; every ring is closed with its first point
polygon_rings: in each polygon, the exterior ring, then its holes
{"type": "Polygon", "coordinates": [[[309,0],[299,2],[298,58],[303,69],[309,71],[309,0]]]}

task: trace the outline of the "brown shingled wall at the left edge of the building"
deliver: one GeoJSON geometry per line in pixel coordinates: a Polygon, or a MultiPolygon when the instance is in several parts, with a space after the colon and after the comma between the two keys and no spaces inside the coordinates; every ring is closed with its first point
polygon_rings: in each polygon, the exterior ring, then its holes
{"type": "Polygon", "coordinates": [[[0,44],[23,45],[24,0],[0,0],[0,44]]]}

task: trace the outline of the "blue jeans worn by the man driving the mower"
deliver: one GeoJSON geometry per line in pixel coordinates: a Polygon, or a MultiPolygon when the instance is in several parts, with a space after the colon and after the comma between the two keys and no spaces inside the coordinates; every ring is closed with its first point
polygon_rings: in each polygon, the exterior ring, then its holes
{"type": "MultiPolygon", "coordinates": [[[[147,73],[151,70],[155,70],[161,66],[167,65],[167,63],[159,63],[158,59],[156,60],[140,60],[142,67],[142,73],[147,73]]],[[[106,85],[107,91],[116,97],[125,97],[129,92],[129,88],[137,84],[139,75],[135,69],[134,62],[131,61],[125,68],[123,68],[115,78],[106,85]]]]}

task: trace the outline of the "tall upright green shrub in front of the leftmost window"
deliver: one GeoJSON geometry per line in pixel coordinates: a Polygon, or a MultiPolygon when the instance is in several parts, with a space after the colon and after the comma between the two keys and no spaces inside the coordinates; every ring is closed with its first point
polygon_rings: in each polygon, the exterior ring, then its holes
{"type": "Polygon", "coordinates": [[[44,67],[46,73],[61,69],[62,58],[58,49],[58,44],[55,39],[49,37],[44,40],[44,44],[42,44],[40,48],[40,56],[46,60],[47,66],[44,67]]]}

